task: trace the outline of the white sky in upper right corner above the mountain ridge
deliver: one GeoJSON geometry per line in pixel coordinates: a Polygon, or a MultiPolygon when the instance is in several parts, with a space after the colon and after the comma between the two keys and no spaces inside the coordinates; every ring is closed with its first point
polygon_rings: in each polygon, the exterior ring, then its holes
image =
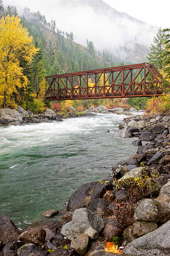
{"type": "Polygon", "coordinates": [[[103,0],[117,11],[128,13],[158,27],[170,27],[170,0],[103,0]]]}

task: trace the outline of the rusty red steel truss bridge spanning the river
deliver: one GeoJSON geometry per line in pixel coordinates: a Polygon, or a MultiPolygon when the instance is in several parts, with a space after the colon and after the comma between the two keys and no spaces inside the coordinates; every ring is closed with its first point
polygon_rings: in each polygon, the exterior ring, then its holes
{"type": "Polygon", "coordinates": [[[148,97],[163,93],[162,75],[147,63],[57,74],[45,79],[45,100],[148,97]]]}

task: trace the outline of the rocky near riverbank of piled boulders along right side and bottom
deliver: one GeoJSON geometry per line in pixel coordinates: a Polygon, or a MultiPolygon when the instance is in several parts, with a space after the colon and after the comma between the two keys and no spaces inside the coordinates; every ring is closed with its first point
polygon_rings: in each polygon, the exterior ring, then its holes
{"type": "Polygon", "coordinates": [[[130,115],[119,128],[137,154],[113,166],[110,179],[77,189],[61,222],[21,233],[0,215],[2,255],[114,255],[103,242],[124,256],[170,255],[170,115],[130,115]]]}

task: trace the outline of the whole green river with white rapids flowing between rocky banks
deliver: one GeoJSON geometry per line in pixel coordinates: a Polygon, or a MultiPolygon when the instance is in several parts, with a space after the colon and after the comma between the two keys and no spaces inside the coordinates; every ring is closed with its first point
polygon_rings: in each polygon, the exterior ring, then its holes
{"type": "Polygon", "coordinates": [[[115,136],[123,117],[1,126],[0,214],[24,229],[45,221],[42,212],[62,210],[82,184],[109,177],[114,164],[136,153],[133,139],[115,136]]]}

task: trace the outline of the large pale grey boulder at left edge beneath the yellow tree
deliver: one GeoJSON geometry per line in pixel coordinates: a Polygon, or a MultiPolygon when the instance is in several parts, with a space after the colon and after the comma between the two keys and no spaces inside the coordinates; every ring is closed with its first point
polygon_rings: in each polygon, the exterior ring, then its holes
{"type": "Polygon", "coordinates": [[[0,110],[0,120],[23,121],[23,115],[15,109],[3,108],[0,110]]]}

